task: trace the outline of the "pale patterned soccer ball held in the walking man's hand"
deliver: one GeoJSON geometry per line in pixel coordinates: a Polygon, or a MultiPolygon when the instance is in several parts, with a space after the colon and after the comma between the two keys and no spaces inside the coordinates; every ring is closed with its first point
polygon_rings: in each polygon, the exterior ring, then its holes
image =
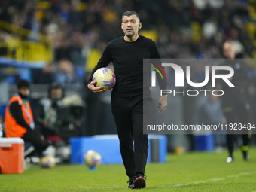
{"type": "Polygon", "coordinates": [[[105,90],[111,90],[115,84],[115,75],[111,69],[100,68],[93,74],[93,81],[96,81],[96,87],[103,86],[105,90]]]}

